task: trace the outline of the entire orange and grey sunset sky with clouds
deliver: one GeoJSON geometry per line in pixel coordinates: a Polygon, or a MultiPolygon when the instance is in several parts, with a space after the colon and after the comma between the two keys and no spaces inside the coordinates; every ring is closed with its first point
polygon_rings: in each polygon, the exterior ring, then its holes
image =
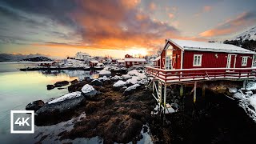
{"type": "Polygon", "coordinates": [[[154,54],[166,38],[234,38],[256,25],[254,6],[254,0],[0,0],[0,53],[154,54]]]}

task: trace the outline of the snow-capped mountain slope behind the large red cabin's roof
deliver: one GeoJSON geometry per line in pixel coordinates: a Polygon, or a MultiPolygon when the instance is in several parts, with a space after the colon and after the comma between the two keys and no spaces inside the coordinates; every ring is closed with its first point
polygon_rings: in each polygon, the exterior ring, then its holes
{"type": "Polygon", "coordinates": [[[233,40],[240,40],[240,39],[242,39],[242,41],[245,41],[245,40],[256,41],[256,26],[251,28],[250,30],[246,30],[242,34],[239,34],[233,40]]]}

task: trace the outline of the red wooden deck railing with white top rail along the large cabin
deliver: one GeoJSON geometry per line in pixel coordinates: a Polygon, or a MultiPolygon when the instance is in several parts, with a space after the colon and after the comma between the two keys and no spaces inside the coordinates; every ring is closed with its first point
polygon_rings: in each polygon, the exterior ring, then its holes
{"type": "Polygon", "coordinates": [[[146,73],[163,82],[180,82],[190,80],[210,80],[216,78],[255,78],[256,68],[202,68],[163,70],[146,66],[146,73]]]}

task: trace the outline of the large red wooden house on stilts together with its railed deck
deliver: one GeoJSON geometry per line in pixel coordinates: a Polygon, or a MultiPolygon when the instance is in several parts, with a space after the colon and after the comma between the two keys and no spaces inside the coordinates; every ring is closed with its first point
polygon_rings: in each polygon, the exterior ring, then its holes
{"type": "MultiPolygon", "coordinates": [[[[154,74],[158,73],[163,81],[174,80],[174,77],[178,77],[178,81],[181,78],[195,78],[190,76],[210,79],[210,76],[216,78],[230,74],[238,78],[242,74],[249,77],[254,54],[253,51],[229,44],[166,39],[160,55],[160,66],[154,65],[154,74]]],[[[153,70],[151,68],[148,67],[148,70],[153,70]]]]}

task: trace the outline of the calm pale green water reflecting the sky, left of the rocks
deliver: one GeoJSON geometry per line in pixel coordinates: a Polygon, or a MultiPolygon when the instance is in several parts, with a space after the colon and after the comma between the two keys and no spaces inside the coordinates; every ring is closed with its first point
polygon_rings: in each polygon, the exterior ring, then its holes
{"type": "MultiPolygon", "coordinates": [[[[25,110],[28,103],[41,99],[44,102],[68,93],[67,89],[47,90],[55,82],[82,79],[92,75],[83,70],[19,71],[36,64],[0,63],[0,139],[10,134],[10,110],[25,110]]],[[[67,86],[64,86],[67,87],[67,86]]]]}

